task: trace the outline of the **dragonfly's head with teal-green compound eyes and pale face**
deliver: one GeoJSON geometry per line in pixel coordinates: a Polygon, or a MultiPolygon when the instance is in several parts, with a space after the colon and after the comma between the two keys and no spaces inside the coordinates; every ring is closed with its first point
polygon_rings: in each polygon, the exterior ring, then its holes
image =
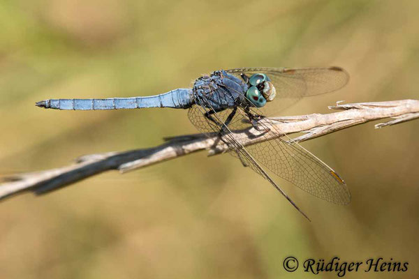
{"type": "Polygon", "coordinates": [[[246,97],[253,105],[263,107],[266,102],[274,100],[275,96],[277,96],[277,91],[267,75],[257,73],[249,78],[249,89],[246,97]]]}

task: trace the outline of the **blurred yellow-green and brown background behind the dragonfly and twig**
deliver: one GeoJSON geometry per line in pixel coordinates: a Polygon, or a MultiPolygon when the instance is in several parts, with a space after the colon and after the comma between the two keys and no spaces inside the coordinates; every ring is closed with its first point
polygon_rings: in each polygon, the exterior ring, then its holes
{"type": "MultiPolygon", "coordinates": [[[[61,112],[47,98],[147,96],[203,73],[341,66],[337,100],[418,98],[418,1],[0,1],[0,174],[60,167],[196,133],[184,110],[61,112]]],[[[344,177],[348,206],[279,181],[312,222],[231,156],[196,153],[0,204],[1,278],[312,278],[302,260],[409,262],[419,276],[419,121],[367,123],[302,145],[344,177]]],[[[335,278],[323,273],[321,278],[335,278]]]]}

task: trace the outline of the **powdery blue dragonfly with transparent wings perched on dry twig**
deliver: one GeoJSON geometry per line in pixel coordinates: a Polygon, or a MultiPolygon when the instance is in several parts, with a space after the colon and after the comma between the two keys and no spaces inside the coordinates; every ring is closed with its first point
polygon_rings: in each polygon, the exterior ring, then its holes
{"type": "Polygon", "coordinates": [[[215,70],[198,77],[191,88],[155,96],[49,99],[36,105],[55,110],[187,109],[200,133],[217,135],[217,144],[227,146],[227,152],[240,159],[242,165],[267,179],[309,220],[272,178],[274,175],[335,204],[348,204],[351,194],[337,172],[281,134],[270,116],[303,97],[341,89],[348,79],[346,70],[339,67],[235,68],[215,70]],[[257,143],[245,145],[235,132],[250,128],[258,132],[253,135],[257,143]]]}

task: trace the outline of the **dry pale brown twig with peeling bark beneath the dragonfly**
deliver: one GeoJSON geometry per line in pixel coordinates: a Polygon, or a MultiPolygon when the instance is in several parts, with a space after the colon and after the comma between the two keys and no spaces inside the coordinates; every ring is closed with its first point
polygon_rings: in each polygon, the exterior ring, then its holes
{"type": "MultiPolygon", "coordinates": [[[[272,117],[269,125],[274,125],[275,129],[281,132],[281,135],[304,133],[304,135],[293,139],[295,142],[302,142],[378,119],[392,118],[394,120],[378,123],[375,128],[419,118],[419,100],[337,103],[329,108],[343,111],[330,114],[272,117]]],[[[249,137],[249,133],[255,133],[254,129],[251,132],[252,129],[236,133],[237,139],[244,146],[258,141],[257,137],[249,137]]],[[[149,149],[82,156],[73,165],[41,172],[18,174],[6,178],[6,181],[0,184],[0,199],[28,190],[39,195],[111,169],[128,172],[204,149],[209,150],[210,156],[226,151],[227,146],[225,144],[214,146],[214,142],[222,143],[222,141],[216,140],[216,135],[210,138],[202,134],[183,135],[173,137],[168,142],[149,149]]]]}

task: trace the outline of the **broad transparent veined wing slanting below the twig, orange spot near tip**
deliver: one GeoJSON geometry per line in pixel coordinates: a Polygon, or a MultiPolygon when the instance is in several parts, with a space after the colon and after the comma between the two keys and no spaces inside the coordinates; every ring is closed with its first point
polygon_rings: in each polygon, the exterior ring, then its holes
{"type": "MultiPolygon", "coordinates": [[[[256,108],[251,111],[261,113],[256,108]]],[[[335,204],[351,202],[346,183],[331,167],[288,136],[284,136],[286,140],[278,137],[281,133],[272,120],[264,118],[258,121],[258,126],[270,130],[269,133],[260,135],[260,143],[246,148],[260,164],[315,197],[335,204]],[[272,137],[276,138],[268,140],[272,137]]]]}

